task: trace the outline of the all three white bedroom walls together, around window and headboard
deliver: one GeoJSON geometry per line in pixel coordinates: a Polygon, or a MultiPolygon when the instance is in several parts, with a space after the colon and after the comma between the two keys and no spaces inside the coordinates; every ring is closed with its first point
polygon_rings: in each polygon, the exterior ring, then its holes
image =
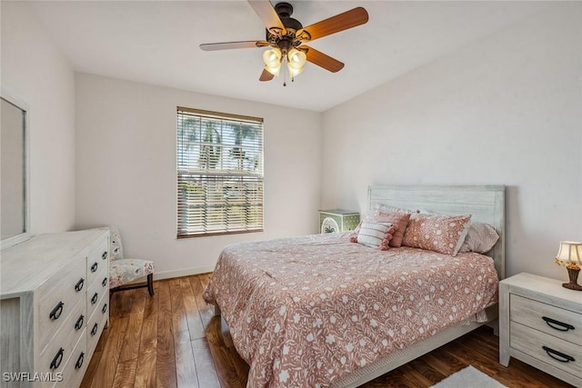
{"type": "Polygon", "coordinates": [[[364,212],[368,184],[507,184],[507,274],[566,278],[552,257],[559,240],[582,238],[580,3],[558,3],[323,119],[75,78],[25,4],[1,6],[2,89],[30,109],[33,233],[117,224],[127,254],[154,258],[161,275],[189,274],[212,269],[226,244],[316,232],[320,206],[364,212]],[[176,241],[176,105],[265,117],[265,233],[176,241]]]}

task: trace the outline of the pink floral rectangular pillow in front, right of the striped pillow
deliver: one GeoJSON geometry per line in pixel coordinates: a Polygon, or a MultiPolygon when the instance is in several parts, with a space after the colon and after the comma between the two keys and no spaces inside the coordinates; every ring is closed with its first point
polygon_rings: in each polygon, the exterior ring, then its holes
{"type": "Polygon", "coordinates": [[[467,236],[470,220],[470,214],[412,214],[402,244],[456,256],[467,236]]]}

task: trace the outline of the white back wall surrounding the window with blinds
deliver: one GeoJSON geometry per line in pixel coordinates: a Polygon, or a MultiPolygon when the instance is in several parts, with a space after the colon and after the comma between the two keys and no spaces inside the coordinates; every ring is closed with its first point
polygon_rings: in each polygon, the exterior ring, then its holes
{"type": "Polygon", "coordinates": [[[226,244],[316,233],[321,114],[77,74],[76,227],[115,224],[156,278],[214,269],[226,244]],[[265,119],[265,232],[176,240],[176,106],[265,119]]]}

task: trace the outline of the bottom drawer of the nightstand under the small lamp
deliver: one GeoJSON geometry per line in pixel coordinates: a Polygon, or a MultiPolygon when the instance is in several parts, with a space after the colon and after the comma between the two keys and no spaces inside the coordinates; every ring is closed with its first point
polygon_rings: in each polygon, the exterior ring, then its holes
{"type": "Polygon", "coordinates": [[[510,323],[509,330],[511,332],[509,346],[512,348],[573,376],[582,375],[581,346],[560,340],[520,323],[510,323]],[[546,350],[544,346],[546,346],[546,350]]]}

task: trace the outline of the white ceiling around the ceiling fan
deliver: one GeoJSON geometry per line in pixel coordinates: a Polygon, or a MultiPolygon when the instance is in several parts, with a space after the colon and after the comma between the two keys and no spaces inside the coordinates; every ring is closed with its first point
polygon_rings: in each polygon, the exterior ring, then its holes
{"type": "Polygon", "coordinates": [[[303,25],[366,8],[366,25],[309,44],[344,62],[343,70],[333,74],[308,63],[284,87],[282,77],[258,81],[264,49],[200,50],[203,43],[265,38],[264,25],[245,0],[41,1],[30,6],[75,71],[317,112],[549,6],[529,1],[289,3],[295,7],[292,17],[303,25]]]}

